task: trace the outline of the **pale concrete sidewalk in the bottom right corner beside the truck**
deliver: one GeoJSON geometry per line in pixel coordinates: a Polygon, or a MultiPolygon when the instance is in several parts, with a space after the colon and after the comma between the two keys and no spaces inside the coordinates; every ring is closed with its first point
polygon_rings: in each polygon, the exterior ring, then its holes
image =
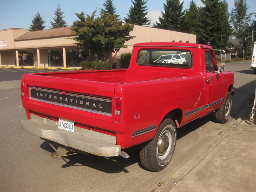
{"type": "Polygon", "coordinates": [[[215,141],[205,158],[188,162],[187,169],[175,173],[157,191],[256,191],[256,124],[249,119],[235,128],[227,127],[229,132],[215,141]]]}

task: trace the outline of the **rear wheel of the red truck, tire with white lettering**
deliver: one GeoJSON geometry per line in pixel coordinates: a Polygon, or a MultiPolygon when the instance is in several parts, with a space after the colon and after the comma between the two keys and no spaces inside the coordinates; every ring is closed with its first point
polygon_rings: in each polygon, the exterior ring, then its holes
{"type": "Polygon", "coordinates": [[[153,140],[140,145],[140,161],[148,170],[158,172],[170,162],[175,150],[176,126],[166,118],[159,126],[153,140]]]}

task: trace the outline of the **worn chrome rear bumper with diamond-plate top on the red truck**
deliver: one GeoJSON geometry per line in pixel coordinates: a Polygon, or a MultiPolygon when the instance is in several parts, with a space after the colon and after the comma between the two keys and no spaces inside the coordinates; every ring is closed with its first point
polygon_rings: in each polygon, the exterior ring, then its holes
{"type": "Polygon", "coordinates": [[[80,127],[78,133],[64,131],[59,129],[58,122],[33,116],[30,120],[21,121],[21,129],[24,131],[33,133],[45,140],[50,140],[55,143],[59,143],[66,147],[71,147],[80,151],[91,153],[98,156],[119,156],[121,155],[121,146],[114,144],[115,137],[98,133],[90,130],[85,130],[80,127]],[[89,132],[89,136],[86,136],[86,132],[89,132]],[[96,134],[96,136],[95,136],[96,134]],[[103,138],[102,140],[98,138],[103,138]],[[112,143],[111,143],[112,142],[112,143]]]}

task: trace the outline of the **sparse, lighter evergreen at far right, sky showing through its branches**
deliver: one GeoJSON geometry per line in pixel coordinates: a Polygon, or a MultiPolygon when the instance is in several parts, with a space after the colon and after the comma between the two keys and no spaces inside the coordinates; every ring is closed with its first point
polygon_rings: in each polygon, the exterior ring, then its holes
{"type": "Polygon", "coordinates": [[[232,35],[236,38],[244,38],[251,23],[252,13],[247,14],[249,6],[246,0],[235,0],[235,8],[231,10],[230,23],[232,35]]]}

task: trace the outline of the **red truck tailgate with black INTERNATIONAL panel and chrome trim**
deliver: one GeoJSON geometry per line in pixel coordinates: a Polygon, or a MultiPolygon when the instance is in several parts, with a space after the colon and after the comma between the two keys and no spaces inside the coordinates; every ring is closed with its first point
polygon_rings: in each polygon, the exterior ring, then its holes
{"type": "Polygon", "coordinates": [[[22,103],[28,111],[114,131],[112,102],[116,84],[35,74],[23,76],[21,82],[25,83],[22,103]]]}

